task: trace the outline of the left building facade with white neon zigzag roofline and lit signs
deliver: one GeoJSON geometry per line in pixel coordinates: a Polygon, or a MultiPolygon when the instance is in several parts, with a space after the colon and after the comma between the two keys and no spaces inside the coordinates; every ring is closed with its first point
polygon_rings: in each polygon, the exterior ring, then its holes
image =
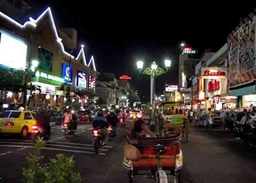
{"type": "MultiPolygon", "coordinates": [[[[42,104],[62,107],[67,105],[67,98],[72,102],[75,100],[82,102],[77,96],[78,90],[95,93],[97,78],[95,61],[92,56],[87,63],[83,46],[77,48],[76,30],[56,27],[50,8],[35,19],[29,18],[25,23],[17,22],[14,20],[16,16],[10,17],[9,14],[13,15],[13,12],[19,10],[7,1],[2,1],[4,3],[0,5],[0,65],[7,70],[10,68],[31,70],[32,62],[34,60],[39,62],[25,80],[28,85],[41,88],[41,92],[33,91],[31,95],[30,91],[27,92],[31,101],[30,107],[42,104]],[[74,56],[68,53],[67,50],[70,49],[78,50],[78,54],[74,56]],[[13,51],[15,53],[12,53],[13,57],[8,57],[13,51]]],[[[24,13],[19,12],[19,14],[24,13]]],[[[11,91],[5,92],[11,93],[11,91]]],[[[10,99],[11,103],[23,102],[22,94],[14,94],[14,96],[9,94],[8,97],[16,99],[10,99]]]]}

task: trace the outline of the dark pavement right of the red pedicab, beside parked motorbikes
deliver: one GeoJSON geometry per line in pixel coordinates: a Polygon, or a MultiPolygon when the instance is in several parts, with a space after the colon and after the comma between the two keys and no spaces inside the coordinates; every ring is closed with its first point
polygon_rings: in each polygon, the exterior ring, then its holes
{"type": "Polygon", "coordinates": [[[189,124],[189,142],[182,144],[184,170],[197,183],[255,183],[256,150],[234,135],[189,124]]]}

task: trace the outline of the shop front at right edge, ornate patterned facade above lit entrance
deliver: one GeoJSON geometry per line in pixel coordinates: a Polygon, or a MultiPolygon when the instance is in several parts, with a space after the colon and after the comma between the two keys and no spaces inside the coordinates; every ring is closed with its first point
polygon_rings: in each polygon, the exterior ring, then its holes
{"type": "Polygon", "coordinates": [[[228,89],[230,96],[237,97],[237,108],[255,105],[255,17],[248,14],[242,24],[227,36],[228,89]],[[243,33],[242,33],[243,32],[243,33]]]}

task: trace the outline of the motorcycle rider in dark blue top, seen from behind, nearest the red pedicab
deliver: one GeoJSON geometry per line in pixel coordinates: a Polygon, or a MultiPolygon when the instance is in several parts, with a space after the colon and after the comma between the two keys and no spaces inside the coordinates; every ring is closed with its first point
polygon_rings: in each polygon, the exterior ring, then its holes
{"type": "Polygon", "coordinates": [[[108,121],[106,118],[103,117],[103,110],[98,111],[97,117],[95,117],[94,121],[92,122],[92,126],[95,129],[101,130],[103,137],[103,145],[106,145],[106,137],[108,135],[106,127],[108,127],[108,121]]]}

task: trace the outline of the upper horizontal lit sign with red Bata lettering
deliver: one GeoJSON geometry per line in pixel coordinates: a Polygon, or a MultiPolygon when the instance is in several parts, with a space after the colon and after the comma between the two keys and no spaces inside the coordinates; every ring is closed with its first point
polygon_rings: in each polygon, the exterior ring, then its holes
{"type": "Polygon", "coordinates": [[[226,67],[202,67],[201,68],[202,79],[216,79],[227,78],[226,67]]]}

